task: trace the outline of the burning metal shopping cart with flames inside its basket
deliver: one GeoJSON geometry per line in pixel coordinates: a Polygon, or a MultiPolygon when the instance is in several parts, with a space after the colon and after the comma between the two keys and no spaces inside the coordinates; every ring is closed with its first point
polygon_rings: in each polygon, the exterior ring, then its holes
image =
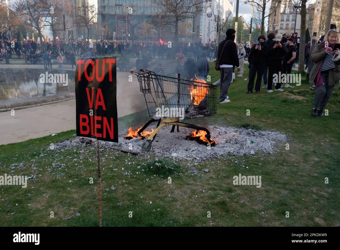
{"type": "MultiPolygon", "coordinates": [[[[207,84],[206,81],[196,76],[195,79],[189,81],[180,79],[180,74],[179,78],[173,78],[157,75],[145,69],[140,71],[141,73],[134,71],[131,73],[138,78],[140,91],[144,94],[150,117],[150,120],[137,132],[139,137],[147,137],[142,144],[143,150],[150,151],[157,132],[165,126],[172,126],[171,132],[174,132],[175,126],[177,126],[177,132],[179,132],[179,127],[196,129],[195,133],[201,139],[203,137],[206,143],[215,144],[210,139],[210,132],[207,128],[180,120],[216,115],[216,86],[207,84]],[[143,132],[156,121],[158,123],[155,130],[151,133],[143,132]]],[[[127,137],[129,136],[125,138],[127,137]]]]}

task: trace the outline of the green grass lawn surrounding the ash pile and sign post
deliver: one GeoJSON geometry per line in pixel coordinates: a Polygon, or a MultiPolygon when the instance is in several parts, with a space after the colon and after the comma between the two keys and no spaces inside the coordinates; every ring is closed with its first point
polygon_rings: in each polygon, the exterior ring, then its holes
{"type": "MultiPolygon", "coordinates": [[[[210,68],[214,82],[219,72],[213,64],[210,68]]],[[[260,94],[245,95],[247,67],[243,76],[229,88],[231,102],[217,104],[217,115],[201,122],[280,131],[289,141],[277,143],[274,154],[226,155],[197,165],[101,148],[103,226],[339,226],[338,86],[326,107],[329,115],[312,117],[314,91],[307,81],[283,93],[261,89],[260,94]],[[198,174],[189,173],[193,167],[198,174]],[[233,176],[239,173],[260,175],[261,188],[234,186],[233,176]]],[[[146,120],[143,111],[120,118],[119,127],[129,128],[132,122],[136,127],[146,120]]],[[[0,146],[0,174],[9,174],[11,164],[23,163],[13,174],[36,175],[27,188],[0,186],[0,226],[98,226],[95,146],[46,150],[74,134],[0,146]]]]}

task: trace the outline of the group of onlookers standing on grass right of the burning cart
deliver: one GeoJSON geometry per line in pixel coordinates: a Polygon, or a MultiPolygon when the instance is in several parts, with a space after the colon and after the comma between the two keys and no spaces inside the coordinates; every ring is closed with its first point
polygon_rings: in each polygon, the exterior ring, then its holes
{"type": "MultiPolygon", "coordinates": [[[[221,41],[218,46],[217,62],[220,79],[213,84],[221,84],[220,103],[230,102],[227,96],[228,88],[233,81],[235,67],[239,72],[238,76],[243,76],[244,57],[248,57],[249,62],[248,91],[246,94],[253,93],[255,78],[256,94],[260,93],[262,78],[264,83],[262,88],[267,88],[267,93],[284,91],[282,87],[294,87],[290,85],[292,78],[287,76],[291,74],[294,61],[298,60],[300,37],[297,33],[292,35],[269,33],[267,38],[260,35],[257,38],[258,43],[251,44],[251,46],[248,46],[250,48],[246,46],[245,49],[242,44],[237,45],[234,42],[235,33],[235,30],[228,29],[226,39],[221,41]],[[280,78],[280,76],[284,75],[286,78],[281,81],[284,78],[280,78]],[[275,86],[274,90],[273,85],[275,86]]],[[[316,90],[311,113],[313,116],[323,116],[323,110],[335,88],[334,85],[339,84],[339,44],[339,31],[335,24],[332,24],[330,30],[320,38],[319,43],[311,53],[310,42],[305,44],[304,61],[308,64],[310,56],[310,60],[313,62],[309,75],[309,82],[313,84],[311,89],[316,90]]]]}

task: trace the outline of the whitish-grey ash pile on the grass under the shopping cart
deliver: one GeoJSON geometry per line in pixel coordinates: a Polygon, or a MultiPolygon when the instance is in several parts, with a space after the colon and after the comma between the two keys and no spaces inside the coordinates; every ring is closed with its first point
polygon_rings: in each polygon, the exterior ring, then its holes
{"type": "MultiPolygon", "coordinates": [[[[156,129],[155,126],[151,128],[156,129]]],[[[148,127],[146,130],[151,130],[148,127]]],[[[152,142],[150,152],[142,151],[141,145],[146,139],[124,139],[125,134],[119,137],[119,143],[104,142],[104,144],[125,150],[132,150],[142,154],[154,153],[157,157],[179,157],[186,159],[209,160],[227,154],[253,155],[274,153],[275,141],[287,141],[287,136],[276,131],[256,131],[252,129],[208,126],[211,139],[217,143],[214,147],[199,144],[186,139],[194,130],[180,127],[180,132],[170,133],[171,126],[163,127],[152,142]]]]}

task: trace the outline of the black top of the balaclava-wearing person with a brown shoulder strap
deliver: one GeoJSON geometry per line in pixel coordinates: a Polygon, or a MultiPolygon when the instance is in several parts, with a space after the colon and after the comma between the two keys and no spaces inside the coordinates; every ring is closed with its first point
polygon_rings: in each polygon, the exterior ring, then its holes
{"type": "Polygon", "coordinates": [[[217,49],[217,58],[219,60],[220,65],[222,64],[227,64],[227,65],[233,65],[236,67],[239,67],[240,64],[238,62],[238,55],[237,55],[237,49],[236,49],[236,44],[234,41],[230,40],[228,43],[225,45],[224,50],[223,46],[228,40],[225,39],[221,41],[221,43],[218,46],[217,49]],[[223,50],[223,55],[221,55],[221,52],[223,50]]]}

